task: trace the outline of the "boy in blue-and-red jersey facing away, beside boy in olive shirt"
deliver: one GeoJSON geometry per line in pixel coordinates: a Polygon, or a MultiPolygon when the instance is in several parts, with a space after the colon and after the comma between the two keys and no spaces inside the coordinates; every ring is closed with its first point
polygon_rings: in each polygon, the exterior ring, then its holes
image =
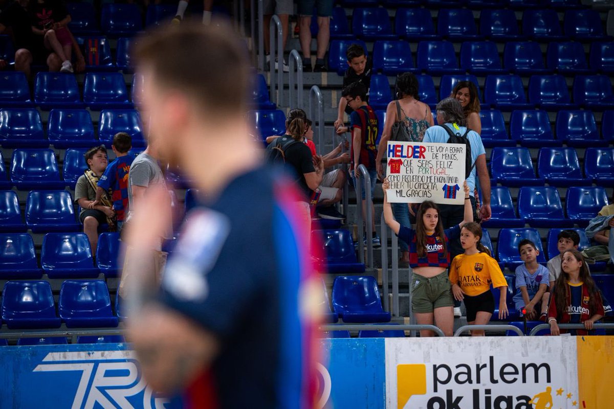
{"type": "MultiPolygon", "coordinates": [[[[128,172],[133,156],[128,155],[132,148],[132,138],[126,132],[118,132],[113,137],[111,149],[115,153],[112,161],[98,181],[96,188],[96,202],[100,201],[104,193],[111,190],[113,210],[117,213],[117,231],[122,230],[123,221],[128,212],[128,172]]],[[[95,203],[96,203],[95,202],[95,203]]],[[[96,203],[97,204],[97,203],[96,203]]]]}

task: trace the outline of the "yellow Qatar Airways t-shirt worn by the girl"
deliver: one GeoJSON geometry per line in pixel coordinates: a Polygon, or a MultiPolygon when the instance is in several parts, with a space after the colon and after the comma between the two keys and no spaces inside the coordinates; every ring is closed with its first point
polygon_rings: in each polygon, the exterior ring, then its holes
{"type": "Polygon", "coordinates": [[[497,261],[486,253],[459,254],[450,268],[450,282],[458,284],[467,296],[475,297],[493,287],[505,287],[507,281],[497,261]]]}

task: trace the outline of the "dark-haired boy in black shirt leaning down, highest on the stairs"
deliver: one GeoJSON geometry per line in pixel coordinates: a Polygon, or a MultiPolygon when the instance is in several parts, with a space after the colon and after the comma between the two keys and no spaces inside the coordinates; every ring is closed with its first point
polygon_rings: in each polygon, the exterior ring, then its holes
{"type": "MultiPolygon", "coordinates": [[[[371,60],[367,58],[365,54],[365,49],[362,48],[360,44],[352,44],[348,47],[346,51],[346,56],[348,58],[348,69],[346,69],[345,74],[343,74],[343,88],[348,88],[348,86],[359,82],[365,86],[367,89],[367,97],[364,101],[368,102],[368,94],[369,88],[371,86],[371,71],[373,64],[371,60]]],[[[348,107],[348,102],[346,99],[341,96],[339,100],[339,109],[337,111],[337,120],[335,121],[335,129],[339,129],[344,126],[343,123],[343,113],[347,113],[348,115],[352,115],[352,109],[348,107]]]]}

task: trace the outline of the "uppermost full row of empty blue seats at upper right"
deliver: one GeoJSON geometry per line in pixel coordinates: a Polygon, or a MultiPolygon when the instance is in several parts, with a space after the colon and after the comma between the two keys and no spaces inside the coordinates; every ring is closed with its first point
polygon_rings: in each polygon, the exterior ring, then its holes
{"type": "MultiPolygon", "coordinates": [[[[567,39],[598,41],[609,39],[605,35],[599,12],[596,10],[567,10],[562,27],[555,10],[524,10],[521,18],[522,34],[518,29],[516,13],[509,9],[482,10],[480,34],[472,10],[440,9],[437,11],[437,32],[431,12],[419,7],[395,10],[394,25],[388,10],[383,7],[356,7],[352,10],[351,31],[346,11],[333,9],[330,33],[333,39],[359,38],[366,41],[403,38],[410,41],[483,40],[500,41],[533,39],[550,42],[567,39]],[[394,26],[394,30],[393,30],[394,26]]],[[[312,32],[317,29],[312,26],[312,32]]]]}

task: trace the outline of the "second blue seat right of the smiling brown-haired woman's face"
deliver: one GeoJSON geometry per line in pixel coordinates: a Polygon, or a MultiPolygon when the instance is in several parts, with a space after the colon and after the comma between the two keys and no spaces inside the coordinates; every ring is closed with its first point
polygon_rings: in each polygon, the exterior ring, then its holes
{"type": "Polygon", "coordinates": [[[546,111],[558,111],[561,109],[577,109],[577,104],[572,104],[572,99],[567,90],[565,77],[562,75],[532,75],[529,80],[529,102],[539,105],[546,111]]]}

